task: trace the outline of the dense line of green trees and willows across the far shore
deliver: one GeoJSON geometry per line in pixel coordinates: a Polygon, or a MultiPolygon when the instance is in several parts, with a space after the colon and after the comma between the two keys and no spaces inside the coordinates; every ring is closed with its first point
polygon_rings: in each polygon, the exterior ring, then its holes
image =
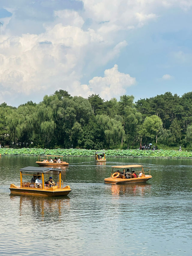
{"type": "Polygon", "coordinates": [[[134,103],[59,90],[39,104],[0,105],[1,145],[37,148],[139,148],[143,143],[192,146],[192,92],[166,92],[134,103]],[[19,143],[19,144],[18,144],[19,143]]]}

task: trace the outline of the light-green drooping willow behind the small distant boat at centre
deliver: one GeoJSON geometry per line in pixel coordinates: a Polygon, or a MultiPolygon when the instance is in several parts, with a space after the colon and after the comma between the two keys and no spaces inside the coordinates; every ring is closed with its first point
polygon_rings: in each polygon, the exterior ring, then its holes
{"type": "Polygon", "coordinates": [[[104,131],[106,140],[108,141],[108,148],[110,143],[115,144],[120,142],[121,138],[125,135],[125,131],[120,121],[116,121],[106,115],[97,115],[96,121],[104,131]]]}

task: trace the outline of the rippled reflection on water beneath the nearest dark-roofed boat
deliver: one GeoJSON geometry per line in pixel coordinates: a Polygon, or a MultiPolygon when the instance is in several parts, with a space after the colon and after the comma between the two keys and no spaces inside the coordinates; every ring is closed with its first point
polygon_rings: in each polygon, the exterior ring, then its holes
{"type": "MultiPolygon", "coordinates": [[[[42,221],[47,217],[59,217],[62,212],[61,209],[70,209],[70,198],[65,197],[30,197],[25,195],[12,195],[11,200],[18,200],[19,197],[19,215],[25,215],[28,211],[28,215],[41,216],[42,221]]],[[[29,218],[30,219],[30,218],[29,218]]]]}

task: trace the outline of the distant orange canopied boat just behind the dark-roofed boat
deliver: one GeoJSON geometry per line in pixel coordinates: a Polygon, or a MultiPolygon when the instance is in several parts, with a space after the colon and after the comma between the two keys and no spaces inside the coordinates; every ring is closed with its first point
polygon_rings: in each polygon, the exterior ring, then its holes
{"type": "Polygon", "coordinates": [[[36,164],[42,165],[42,166],[63,166],[63,165],[69,165],[69,163],[66,163],[66,162],[63,161],[63,156],[62,155],[39,156],[38,157],[38,161],[36,162],[36,164]]]}

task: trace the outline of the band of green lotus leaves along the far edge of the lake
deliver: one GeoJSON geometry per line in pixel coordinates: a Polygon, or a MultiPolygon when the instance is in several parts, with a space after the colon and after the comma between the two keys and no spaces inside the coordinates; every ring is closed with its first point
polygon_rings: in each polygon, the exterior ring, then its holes
{"type": "MultiPolygon", "coordinates": [[[[175,150],[139,150],[139,149],[108,149],[105,150],[107,156],[119,157],[192,157],[191,151],[179,152],[175,150]]],[[[64,156],[94,156],[95,150],[88,149],[13,149],[0,148],[1,155],[64,155],[64,156]]]]}

